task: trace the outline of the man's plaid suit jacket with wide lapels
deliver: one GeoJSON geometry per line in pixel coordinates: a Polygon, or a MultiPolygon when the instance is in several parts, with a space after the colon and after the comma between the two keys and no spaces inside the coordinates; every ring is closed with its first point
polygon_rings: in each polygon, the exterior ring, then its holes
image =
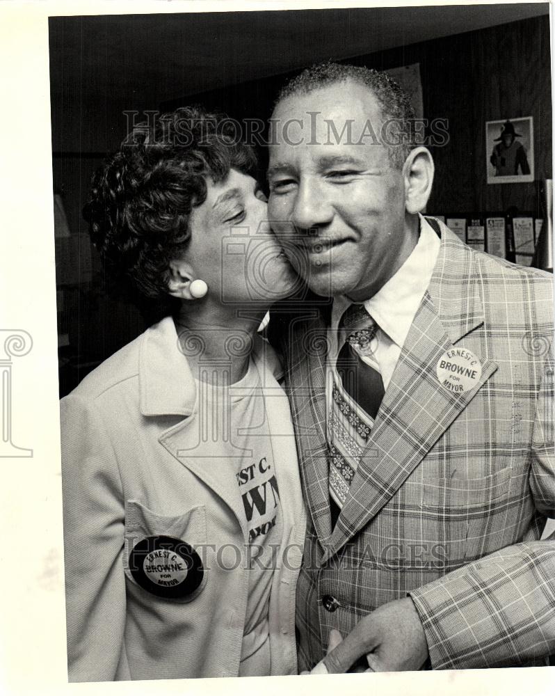
{"type": "Polygon", "coordinates": [[[407,595],[434,669],[545,665],[555,653],[555,538],[540,540],[555,516],[552,276],[473,251],[443,225],[441,238],[333,530],[329,307],[275,314],[309,509],[300,669],[323,658],[330,628],[346,635],[407,595]],[[482,365],[460,394],[436,375],[453,346],[482,365]]]}

